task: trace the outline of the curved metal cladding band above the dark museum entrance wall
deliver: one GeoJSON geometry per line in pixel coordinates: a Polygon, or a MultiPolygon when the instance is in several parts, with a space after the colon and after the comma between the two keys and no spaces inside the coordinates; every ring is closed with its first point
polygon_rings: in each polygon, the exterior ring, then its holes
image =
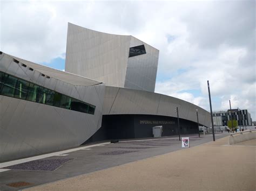
{"type": "Polygon", "coordinates": [[[192,103],[175,97],[150,91],[106,86],[103,115],[143,114],[177,117],[174,111],[179,107],[179,117],[210,126],[211,115],[208,111],[192,103]]]}

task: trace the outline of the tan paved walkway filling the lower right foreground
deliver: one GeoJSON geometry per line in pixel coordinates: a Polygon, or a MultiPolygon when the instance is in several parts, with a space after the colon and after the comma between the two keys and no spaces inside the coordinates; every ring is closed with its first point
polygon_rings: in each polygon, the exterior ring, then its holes
{"type": "Polygon", "coordinates": [[[255,147],[216,142],[28,190],[256,190],[255,147]]]}

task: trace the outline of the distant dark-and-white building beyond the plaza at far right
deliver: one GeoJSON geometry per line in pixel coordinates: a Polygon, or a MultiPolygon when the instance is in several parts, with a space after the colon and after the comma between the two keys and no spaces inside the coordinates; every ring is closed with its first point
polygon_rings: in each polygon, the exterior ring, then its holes
{"type": "Polygon", "coordinates": [[[228,110],[220,110],[213,111],[213,124],[214,126],[227,126],[227,121],[231,120],[231,116],[233,120],[238,121],[239,126],[251,126],[252,118],[251,114],[247,109],[228,109],[228,110]]]}

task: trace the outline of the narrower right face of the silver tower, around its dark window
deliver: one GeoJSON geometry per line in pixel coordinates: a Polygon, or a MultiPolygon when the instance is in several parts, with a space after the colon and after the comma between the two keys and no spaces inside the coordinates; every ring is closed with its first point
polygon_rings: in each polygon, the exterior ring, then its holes
{"type": "Polygon", "coordinates": [[[137,38],[131,37],[130,47],[139,45],[145,46],[146,54],[128,59],[124,87],[154,92],[159,50],[137,38]]]}

